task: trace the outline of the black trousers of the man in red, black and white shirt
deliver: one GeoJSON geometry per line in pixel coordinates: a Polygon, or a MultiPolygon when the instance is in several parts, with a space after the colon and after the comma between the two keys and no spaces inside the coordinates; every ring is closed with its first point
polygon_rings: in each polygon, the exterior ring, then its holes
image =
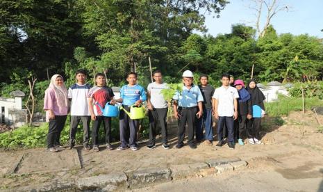
{"type": "Polygon", "coordinates": [[[104,117],[102,115],[97,116],[97,118],[93,122],[92,126],[92,143],[93,145],[99,144],[99,129],[101,122],[103,122],[103,129],[106,133],[106,143],[111,143],[111,118],[104,117]]]}

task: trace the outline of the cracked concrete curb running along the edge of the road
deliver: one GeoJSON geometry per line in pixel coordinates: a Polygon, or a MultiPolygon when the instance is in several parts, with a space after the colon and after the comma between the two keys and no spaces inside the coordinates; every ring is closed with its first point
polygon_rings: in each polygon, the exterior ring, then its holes
{"type": "Polygon", "coordinates": [[[142,168],[139,170],[110,173],[92,177],[72,179],[68,182],[53,181],[38,186],[25,186],[19,189],[6,191],[124,191],[126,189],[138,189],[172,179],[183,179],[188,177],[204,177],[225,173],[245,168],[246,161],[238,157],[209,159],[206,162],[190,164],[179,164],[153,168],[142,168]]]}

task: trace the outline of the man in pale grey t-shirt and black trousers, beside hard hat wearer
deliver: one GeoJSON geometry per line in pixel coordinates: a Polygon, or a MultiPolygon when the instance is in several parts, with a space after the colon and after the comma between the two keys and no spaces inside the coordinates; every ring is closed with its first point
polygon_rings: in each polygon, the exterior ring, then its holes
{"type": "Polygon", "coordinates": [[[148,99],[147,106],[149,109],[149,144],[147,149],[151,150],[156,147],[156,126],[159,120],[161,131],[162,131],[162,143],[165,150],[169,149],[167,141],[167,112],[168,105],[167,101],[161,92],[163,89],[167,89],[167,83],[163,83],[162,73],[160,70],[156,70],[153,73],[154,83],[148,85],[148,99]]]}

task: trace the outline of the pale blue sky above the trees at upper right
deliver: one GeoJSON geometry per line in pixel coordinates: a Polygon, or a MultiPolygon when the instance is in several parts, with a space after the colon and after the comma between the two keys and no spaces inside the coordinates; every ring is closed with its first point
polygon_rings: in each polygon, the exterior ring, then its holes
{"type": "MultiPolygon", "coordinates": [[[[230,0],[226,8],[220,13],[206,13],[206,28],[210,34],[231,33],[232,24],[246,24],[254,26],[256,12],[249,7],[250,0],[230,0]]],[[[308,35],[323,38],[323,0],[280,0],[281,5],[288,5],[288,12],[281,11],[272,18],[271,24],[277,33],[292,33],[294,35],[308,33],[308,35]]],[[[265,15],[264,15],[265,16],[265,15]]],[[[260,26],[263,26],[261,24],[260,26]]],[[[261,27],[262,28],[262,27],[261,27]]],[[[201,33],[200,33],[201,34],[201,33]]]]}

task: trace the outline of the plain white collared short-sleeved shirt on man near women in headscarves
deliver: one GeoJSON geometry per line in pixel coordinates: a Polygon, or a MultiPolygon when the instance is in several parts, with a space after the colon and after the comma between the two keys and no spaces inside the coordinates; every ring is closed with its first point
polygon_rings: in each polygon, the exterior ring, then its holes
{"type": "Polygon", "coordinates": [[[238,90],[229,86],[215,89],[213,98],[217,99],[217,114],[220,117],[232,117],[234,114],[234,99],[239,98],[238,90]]]}

